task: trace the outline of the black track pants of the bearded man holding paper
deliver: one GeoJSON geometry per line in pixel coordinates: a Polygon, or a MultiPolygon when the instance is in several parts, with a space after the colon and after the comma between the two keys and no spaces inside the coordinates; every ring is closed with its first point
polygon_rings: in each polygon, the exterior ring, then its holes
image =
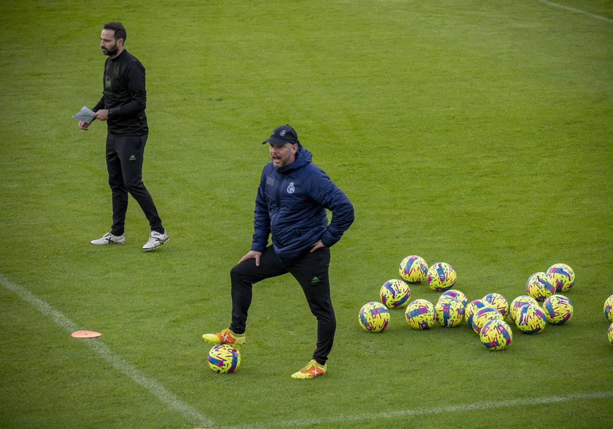
{"type": "Polygon", "coordinates": [[[158,210],[142,180],[143,155],[145,154],[145,135],[107,134],[107,169],[109,186],[113,197],[113,235],[124,232],[128,192],[139,203],[147,216],[151,230],[164,232],[158,210]]]}

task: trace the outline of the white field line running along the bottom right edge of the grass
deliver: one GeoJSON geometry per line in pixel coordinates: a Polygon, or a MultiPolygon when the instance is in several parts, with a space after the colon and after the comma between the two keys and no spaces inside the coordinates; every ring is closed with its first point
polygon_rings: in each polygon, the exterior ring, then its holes
{"type": "MultiPolygon", "coordinates": [[[[386,411],[386,412],[374,412],[371,414],[362,414],[361,416],[356,416],[352,414],[350,416],[335,416],[328,417],[324,419],[305,419],[305,420],[286,420],[285,422],[277,422],[277,423],[259,423],[252,425],[245,425],[235,427],[234,429],[260,429],[260,428],[271,428],[271,427],[297,427],[297,426],[307,426],[307,425],[330,425],[332,423],[341,423],[341,422],[367,422],[369,420],[376,419],[396,419],[398,417],[406,417],[406,416],[424,416],[426,414],[441,414],[443,412],[463,412],[463,411],[471,411],[474,409],[493,409],[493,408],[503,408],[503,407],[512,407],[512,406],[531,406],[531,405],[541,405],[541,404],[552,404],[557,402],[565,402],[565,401],[576,401],[576,400],[593,400],[593,399],[603,399],[603,398],[612,398],[613,390],[609,392],[588,392],[588,393],[575,393],[571,395],[564,395],[560,397],[542,397],[542,398],[523,398],[523,399],[513,399],[506,401],[486,401],[486,402],[476,402],[476,403],[468,403],[468,404],[457,404],[457,405],[443,405],[439,407],[432,408],[416,408],[416,409],[405,409],[400,411],[386,411]]],[[[356,426],[359,426],[359,423],[356,423],[356,426]]],[[[383,425],[384,426],[384,425],[383,425]]]]}

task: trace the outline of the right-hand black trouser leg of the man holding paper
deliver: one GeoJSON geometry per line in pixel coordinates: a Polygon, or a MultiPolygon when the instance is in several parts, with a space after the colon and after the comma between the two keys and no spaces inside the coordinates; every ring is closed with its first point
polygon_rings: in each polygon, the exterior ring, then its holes
{"type": "Polygon", "coordinates": [[[163,233],[164,227],[159,218],[158,210],[142,180],[147,135],[126,135],[114,137],[114,139],[116,139],[116,152],[121,159],[121,173],[125,188],[139,203],[143,213],[147,216],[151,230],[163,233]]]}

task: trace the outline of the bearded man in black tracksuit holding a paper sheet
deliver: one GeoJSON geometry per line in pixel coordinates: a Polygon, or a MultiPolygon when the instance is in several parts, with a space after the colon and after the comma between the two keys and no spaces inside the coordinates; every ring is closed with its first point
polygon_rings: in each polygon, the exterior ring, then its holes
{"type": "MultiPolygon", "coordinates": [[[[124,222],[128,210],[128,192],[142,208],[151,226],[149,240],[143,246],[148,251],[168,241],[158,210],[142,181],[143,154],[149,129],[145,107],[145,67],[125,48],[126,29],[119,22],[104,25],[101,34],[102,53],[108,55],[104,64],[102,98],[93,108],[94,119],[107,121],[107,169],[113,200],[113,225],[110,232],[93,245],[125,243],[124,222]]],[[[80,121],[87,130],[89,123],[80,121]]]]}

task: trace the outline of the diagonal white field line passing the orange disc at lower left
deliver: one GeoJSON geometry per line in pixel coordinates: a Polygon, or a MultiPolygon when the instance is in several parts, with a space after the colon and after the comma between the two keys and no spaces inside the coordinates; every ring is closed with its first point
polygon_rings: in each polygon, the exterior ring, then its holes
{"type": "MultiPolygon", "coordinates": [[[[14,292],[22,300],[39,310],[40,313],[50,317],[56,325],[64,328],[66,332],[72,333],[81,329],[77,326],[77,324],[75,324],[75,322],[71,321],[68,317],[64,316],[64,314],[53,308],[47,302],[32,294],[32,292],[25,289],[25,287],[12,283],[12,281],[7,279],[2,274],[0,274],[0,283],[2,286],[6,287],[6,289],[14,292]]],[[[173,393],[169,392],[163,385],[153,381],[141,371],[137,370],[137,368],[134,368],[134,366],[124,360],[120,355],[113,352],[109,346],[107,346],[99,338],[89,338],[75,341],[82,341],[83,343],[87,344],[89,347],[91,347],[91,349],[93,349],[94,352],[99,354],[102,358],[104,358],[104,360],[114,366],[116,370],[145,387],[145,389],[162,401],[162,403],[166,404],[174,411],[181,414],[181,416],[185,417],[190,424],[204,427],[213,426],[213,423],[207,419],[207,417],[202,416],[202,414],[197,412],[194,408],[181,401],[179,398],[173,395],[173,393]]]]}

